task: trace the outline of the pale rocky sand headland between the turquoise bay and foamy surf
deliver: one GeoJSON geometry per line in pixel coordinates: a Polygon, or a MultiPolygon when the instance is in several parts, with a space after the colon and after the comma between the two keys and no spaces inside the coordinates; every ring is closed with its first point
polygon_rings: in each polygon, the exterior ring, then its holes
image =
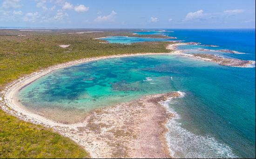
{"type": "Polygon", "coordinates": [[[59,129],[93,158],[170,158],[164,126],[172,116],[159,102],[177,92],[148,95],[133,102],[96,109],[74,130],[59,129]]]}

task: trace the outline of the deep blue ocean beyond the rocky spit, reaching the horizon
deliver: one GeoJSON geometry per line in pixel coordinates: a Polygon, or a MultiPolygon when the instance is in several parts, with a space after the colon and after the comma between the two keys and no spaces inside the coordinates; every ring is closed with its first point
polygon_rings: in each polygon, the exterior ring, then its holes
{"type": "MultiPolygon", "coordinates": [[[[162,34],[169,37],[176,37],[176,40],[184,40],[184,42],[217,45],[219,47],[194,46],[210,50],[228,49],[243,52],[246,54],[229,54],[229,57],[243,60],[255,60],[255,29],[166,29],[155,32],[153,30],[144,30],[136,33],[140,35],[151,33],[162,34]]],[[[180,48],[190,49],[189,46],[186,45],[182,45],[180,48]]]]}

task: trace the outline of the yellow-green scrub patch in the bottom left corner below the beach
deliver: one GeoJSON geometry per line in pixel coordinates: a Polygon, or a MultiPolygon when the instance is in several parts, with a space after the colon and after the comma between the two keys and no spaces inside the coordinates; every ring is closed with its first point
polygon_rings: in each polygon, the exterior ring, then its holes
{"type": "Polygon", "coordinates": [[[74,141],[0,110],[0,158],[88,158],[74,141]]]}

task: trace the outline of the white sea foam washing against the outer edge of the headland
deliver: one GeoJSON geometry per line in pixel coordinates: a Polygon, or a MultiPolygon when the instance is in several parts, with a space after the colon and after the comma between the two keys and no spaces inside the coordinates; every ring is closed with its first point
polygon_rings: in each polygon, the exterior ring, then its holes
{"type": "MultiPolygon", "coordinates": [[[[179,92],[180,98],[185,96],[185,93],[179,92]]],[[[181,119],[171,104],[174,104],[174,98],[170,97],[166,101],[160,102],[168,112],[175,116],[168,120],[166,127],[168,133],[166,139],[169,151],[174,158],[238,158],[232,149],[216,140],[211,135],[198,135],[182,127],[182,123],[178,122],[181,119]]]]}

